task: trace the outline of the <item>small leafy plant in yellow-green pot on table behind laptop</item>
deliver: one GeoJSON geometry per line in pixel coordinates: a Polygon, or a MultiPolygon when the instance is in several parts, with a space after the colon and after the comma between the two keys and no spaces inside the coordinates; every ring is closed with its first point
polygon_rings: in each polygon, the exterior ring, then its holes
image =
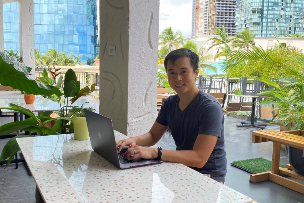
{"type": "MultiPolygon", "coordinates": [[[[89,131],[87,129],[87,120],[84,115],[83,105],[89,102],[83,103],[80,107],[73,106],[69,113],[72,114],[73,129],[70,127],[70,132],[74,131],[75,140],[87,140],[89,139],[89,131]]],[[[96,111],[92,107],[88,108],[91,111],[96,111]]]]}

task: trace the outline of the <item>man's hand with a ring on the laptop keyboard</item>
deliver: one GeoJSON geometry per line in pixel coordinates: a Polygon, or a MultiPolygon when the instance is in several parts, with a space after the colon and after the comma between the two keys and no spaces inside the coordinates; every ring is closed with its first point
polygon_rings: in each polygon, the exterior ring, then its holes
{"type": "Polygon", "coordinates": [[[158,150],[156,148],[147,148],[142,146],[135,146],[130,147],[127,149],[127,151],[124,153],[123,158],[124,159],[137,159],[137,158],[143,158],[143,159],[151,159],[158,156],[158,150]],[[131,156],[133,155],[133,156],[131,156]]]}

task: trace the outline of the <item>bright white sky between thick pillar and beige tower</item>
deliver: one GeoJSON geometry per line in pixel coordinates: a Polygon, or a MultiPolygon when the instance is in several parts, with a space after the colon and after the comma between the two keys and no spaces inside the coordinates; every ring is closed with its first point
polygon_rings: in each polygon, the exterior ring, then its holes
{"type": "Polygon", "coordinates": [[[159,12],[169,15],[159,16],[159,34],[171,26],[174,31],[181,31],[184,38],[190,37],[192,0],[160,0],[159,12]]]}

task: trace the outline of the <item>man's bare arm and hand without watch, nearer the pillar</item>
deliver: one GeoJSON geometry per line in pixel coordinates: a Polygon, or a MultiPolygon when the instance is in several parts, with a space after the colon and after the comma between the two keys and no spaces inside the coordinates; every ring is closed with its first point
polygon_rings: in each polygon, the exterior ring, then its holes
{"type": "Polygon", "coordinates": [[[163,134],[166,132],[167,129],[168,126],[163,126],[155,121],[148,133],[141,136],[130,137],[116,142],[118,153],[126,145],[130,147],[134,147],[135,145],[138,146],[155,145],[160,140],[160,138],[163,136],[163,134]]]}

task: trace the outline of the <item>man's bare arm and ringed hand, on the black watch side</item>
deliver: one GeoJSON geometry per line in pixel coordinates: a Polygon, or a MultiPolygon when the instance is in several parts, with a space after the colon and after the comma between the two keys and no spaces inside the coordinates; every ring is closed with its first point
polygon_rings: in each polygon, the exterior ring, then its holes
{"type": "MultiPolygon", "coordinates": [[[[193,150],[163,150],[161,159],[163,161],[181,163],[186,166],[202,168],[208,161],[212,150],[217,142],[217,136],[214,135],[198,135],[193,146],[193,150]]],[[[149,149],[141,146],[129,148],[126,153],[129,159],[136,159],[139,157],[150,159],[158,156],[157,149],[149,149]],[[136,154],[133,155],[132,151],[135,150],[136,154]]]]}

